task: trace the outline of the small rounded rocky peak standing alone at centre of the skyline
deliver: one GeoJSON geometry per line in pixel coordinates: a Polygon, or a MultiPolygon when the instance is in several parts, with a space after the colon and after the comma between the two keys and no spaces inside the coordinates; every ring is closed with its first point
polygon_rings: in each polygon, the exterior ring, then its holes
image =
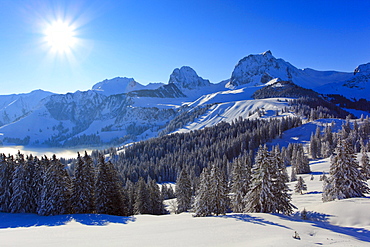
{"type": "Polygon", "coordinates": [[[175,69],[170,75],[169,84],[173,83],[180,89],[198,89],[209,86],[209,80],[198,76],[197,73],[188,66],[175,69]]]}

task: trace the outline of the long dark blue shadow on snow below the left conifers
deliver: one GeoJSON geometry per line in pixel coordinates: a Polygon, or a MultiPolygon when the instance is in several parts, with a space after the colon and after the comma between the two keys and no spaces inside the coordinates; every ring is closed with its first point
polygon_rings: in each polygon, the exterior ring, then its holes
{"type": "Polygon", "coordinates": [[[123,217],[106,214],[66,214],[55,216],[39,216],[36,214],[0,213],[0,229],[31,227],[31,226],[61,226],[75,220],[83,225],[105,226],[109,223],[127,224],[134,222],[135,217],[123,217]]]}

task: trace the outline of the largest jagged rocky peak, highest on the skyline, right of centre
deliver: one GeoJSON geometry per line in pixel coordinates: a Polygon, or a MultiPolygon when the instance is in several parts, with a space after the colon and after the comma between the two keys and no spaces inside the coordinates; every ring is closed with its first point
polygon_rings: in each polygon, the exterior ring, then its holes
{"type": "Polygon", "coordinates": [[[292,80],[302,73],[282,59],[276,59],[271,51],[262,54],[249,55],[239,61],[232,72],[228,87],[236,87],[248,83],[266,83],[273,78],[292,80]]]}

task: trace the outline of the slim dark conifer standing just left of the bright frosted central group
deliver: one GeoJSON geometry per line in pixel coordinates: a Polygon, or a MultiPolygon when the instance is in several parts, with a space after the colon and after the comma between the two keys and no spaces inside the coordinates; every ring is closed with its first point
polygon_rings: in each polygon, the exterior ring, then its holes
{"type": "Polygon", "coordinates": [[[190,178],[186,170],[182,169],[176,182],[177,213],[191,208],[192,194],[190,178]]]}

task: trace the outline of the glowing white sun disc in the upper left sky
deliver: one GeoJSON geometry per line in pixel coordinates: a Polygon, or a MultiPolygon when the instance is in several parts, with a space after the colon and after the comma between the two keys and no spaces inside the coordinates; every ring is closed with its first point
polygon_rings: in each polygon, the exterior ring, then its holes
{"type": "Polygon", "coordinates": [[[58,53],[70,52],[77,41],[75,28],[61,20],[49,23],[44,35],[47,45],[58,53]]]}

